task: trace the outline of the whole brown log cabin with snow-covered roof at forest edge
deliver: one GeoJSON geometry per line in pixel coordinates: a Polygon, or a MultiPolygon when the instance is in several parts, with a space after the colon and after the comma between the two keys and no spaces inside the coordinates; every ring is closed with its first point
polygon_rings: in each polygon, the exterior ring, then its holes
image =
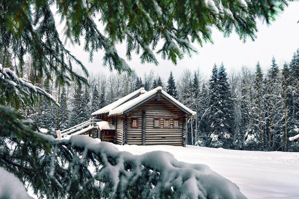
{"type": "Polygon", "coordinates": [[[186,145],[186,121],[195,111],[161,87],[141,88],[95,112],[102,141],[136,145],[186,145]]]}

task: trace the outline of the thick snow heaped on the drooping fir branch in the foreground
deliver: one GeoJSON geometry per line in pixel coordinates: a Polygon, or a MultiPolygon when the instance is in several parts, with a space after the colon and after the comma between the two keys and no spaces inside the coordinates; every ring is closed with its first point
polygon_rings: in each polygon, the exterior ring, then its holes
{"type": "Polygon", "coordinates": [[[105,184],[101,189],[106,189],[110,198],[246,198],[234,183],[208,166],[179,162],[168,152],[133,155],[119,151],[114,144],[83,136],[72,136],[60,142],[99,157],[101,167],[94,173],[94,179],[105,184]]]}

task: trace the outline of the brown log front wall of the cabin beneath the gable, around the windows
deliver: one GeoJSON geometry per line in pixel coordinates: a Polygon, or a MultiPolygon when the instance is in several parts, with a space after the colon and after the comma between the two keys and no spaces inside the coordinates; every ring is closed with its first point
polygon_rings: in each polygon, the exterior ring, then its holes
{"type": "Polygon", "coordinates": [[[182,146],[183,143],[183,120],[184,113],[162,96],[141,104],[128,115],[127,143],[142,145],[143,111],[146,118],[146,145],[166,144],[182,146]],[[131,127],[131,119],[138,118],[138,128],[131,127]],[[160,128],[153,127],[154,118],[160,119],[160,128]],[[164,128],[163,120],[170,119],[170,128],[164,128]],[[179,126],[173,127],[173,119],[179,119],[179,126]]]}

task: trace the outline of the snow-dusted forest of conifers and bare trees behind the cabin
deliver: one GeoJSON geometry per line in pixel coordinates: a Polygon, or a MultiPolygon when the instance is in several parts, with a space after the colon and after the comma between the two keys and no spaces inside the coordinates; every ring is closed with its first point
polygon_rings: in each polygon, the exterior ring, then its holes
{"type": "Polygon", "coordinates": [[[273,57],[267,71],[257,63],[255,68],[242,67],[228,74],[223,64],[215,64],[210,77],[185,69],[177,80],[171,72],[168,80],[162,80],[154,71],[142,76],[133,71],[91,74],[88,83],[59,87],[53,80],[44,89],[56,97],[60,107],[41,97],[34,109],[23,109],[23,114],[55,136],[55,130],[87,120],[93,111],[141,87],[149,91],[161,86],[197,112],[188,119],[188,144],[299,151],[299,144],[288,140],[299,133],[299,50],[283,66],[273,57]]]}

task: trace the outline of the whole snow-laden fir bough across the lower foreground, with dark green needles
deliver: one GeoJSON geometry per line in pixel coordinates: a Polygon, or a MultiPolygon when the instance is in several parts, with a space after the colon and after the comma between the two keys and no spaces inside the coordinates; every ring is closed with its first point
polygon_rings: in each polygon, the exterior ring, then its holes
{"type": "Polygon", "coordinates": [[[56,140],[31,131],[21,120],[11,120],[19,117],[11,108],[1,111],[0,106],[0,115],[7,118],[0,122],[6,129],[0,131],[0,167],[39,197],[245,198],[235,184],[205,165],[179,162],[162,151],[132,155],[87,136],[56,140]]]}

